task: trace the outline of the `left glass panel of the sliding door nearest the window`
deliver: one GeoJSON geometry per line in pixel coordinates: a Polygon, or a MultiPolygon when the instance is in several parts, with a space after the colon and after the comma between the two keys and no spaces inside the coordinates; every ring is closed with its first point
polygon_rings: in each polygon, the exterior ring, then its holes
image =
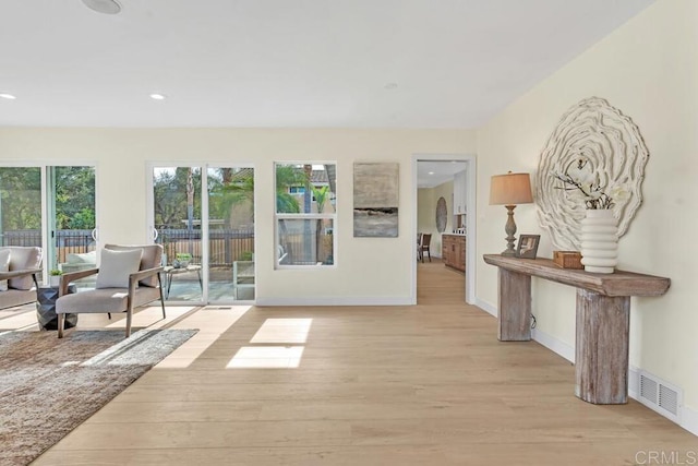
{"type": "Polygon", "coordinates": [[[163,244],[165,298],[203,302],[202,168],[153,169],[155,242],[163,244]]]}

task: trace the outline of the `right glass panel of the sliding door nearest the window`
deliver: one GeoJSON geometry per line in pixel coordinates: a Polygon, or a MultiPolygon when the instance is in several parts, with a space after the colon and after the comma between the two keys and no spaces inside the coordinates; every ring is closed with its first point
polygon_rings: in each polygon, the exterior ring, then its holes
{"type": "Polygon", "coordinates": [[[208,298],[254,300],[254,169],[208,167],[208,298]]]}

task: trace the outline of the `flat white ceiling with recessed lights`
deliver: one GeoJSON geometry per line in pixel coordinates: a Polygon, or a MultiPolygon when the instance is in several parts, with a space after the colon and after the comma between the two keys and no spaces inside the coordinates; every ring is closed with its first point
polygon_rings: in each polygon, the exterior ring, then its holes
{"type": "Polygon", "coordinates": [[[119,1],[0,0],[0,127],[476,128],[652,0],[119,1]]]}

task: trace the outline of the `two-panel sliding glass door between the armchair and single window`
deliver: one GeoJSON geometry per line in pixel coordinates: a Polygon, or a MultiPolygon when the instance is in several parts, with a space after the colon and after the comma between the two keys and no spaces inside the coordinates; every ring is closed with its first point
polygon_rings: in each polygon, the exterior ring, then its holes
{"type": "Polygon", "coordinates": [[[254,170],[163,165],[151,176],[153,237],[166,254],[166,299],[253,300],[254,170]]]}

